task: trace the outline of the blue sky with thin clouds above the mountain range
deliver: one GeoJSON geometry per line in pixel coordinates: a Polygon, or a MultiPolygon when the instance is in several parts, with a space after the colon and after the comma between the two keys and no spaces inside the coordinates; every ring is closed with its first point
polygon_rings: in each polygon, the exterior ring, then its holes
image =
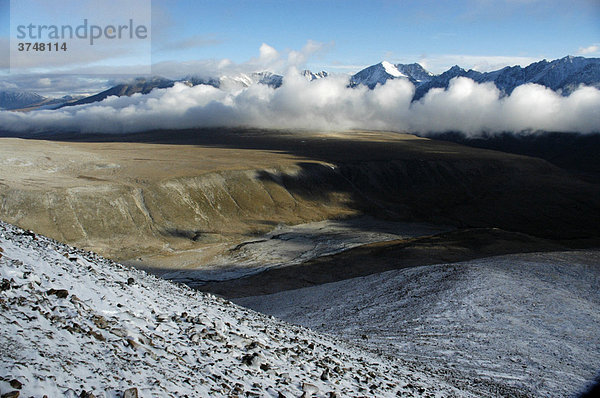
{"type": "MultiPolygon", "coordinates": [[[[51,4],[69,21],[67,0],[51,4]]],[[[198,65],[222,65],[224,59],[240,68],[283,72],[290,64],[286,61],[290,52],[302,55],[297,67],[340,73],[354,73],[382,60],[419,62],[440,73],[455,64],[486,71],[566,55],[600,57],[600,0],[152,0],[151,4],[151,59],[159,66],[153,73],[168,77],[181,77],[176,75],[185,70],[182,65],[193,71],[198,65]],[[259,58],[263,43],[270,46],[263,48],[276,50],[279,62],[259,58]]],[[[8,5],[9,0],[0,0],[0,51],[10,33],[8,5]]],[[[30,8],[31,18],[45,18],[43,7],[30,8]]],[[[95,55],[94,62],[104,56],[95,55]]],[[[106,57],[113,55],[108,51],[106,57]]],[[[4,62],[0,74],[6,58],[0,57],[4,62]]],[[[88,62],[79,61],[79,68],[88,62]]]]}

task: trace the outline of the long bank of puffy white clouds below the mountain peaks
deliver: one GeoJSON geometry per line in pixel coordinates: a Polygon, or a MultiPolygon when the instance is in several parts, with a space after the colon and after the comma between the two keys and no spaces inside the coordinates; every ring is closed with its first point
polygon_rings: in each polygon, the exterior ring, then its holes
{"type": "MultiPolygon", "coordinates": [[[[265,51],[268,54],[268,51],[265,51]]],[[[493,83],[456,78],[411,102],[414,86],[391,80],[374,90],[348,88],[348,78],[309,82],[290,70],[279,89],[256,84],[227,92],[176,84],[148,95],[110,97],[89,105],[29,113],[0,112],[0,130],[125,133],[194,127],[400,132],[600,132],[600,90],[580,87],[563,97],[527,84],[502,97],[493,83]]]]}

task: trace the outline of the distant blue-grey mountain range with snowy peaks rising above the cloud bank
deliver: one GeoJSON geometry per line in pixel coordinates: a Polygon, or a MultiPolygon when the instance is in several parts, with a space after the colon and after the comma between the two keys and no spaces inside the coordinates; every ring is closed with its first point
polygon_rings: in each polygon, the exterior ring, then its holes
{"type": "MultiPolygon", "coordinates": [[[[328,73],[304,70],[301,75],[309,81],[313,81],[326,78],[328,73]]],[[[512,93],[517,86],[522,84],[536,83],[558,91],[562,95],[568,95],[581,84],[600,88],[600,58],[567,56],[554,61],[535,62],[525,68],[507,66],[492,72],[465,70],[455,65],[439,75],[427,71],[417,63],[392,64],[383,61],[352,75],[349,85],[350,87],[365,85],[373,89],[378,84],[385,84],[388,80],[407,79],[416,87],[413,100],[419,100],[432,88],[447,88],[450,80],[461,76],[478,83],[493,82],[503,94],[512,93]]],[[[109,96],[148,94],[155,88],[172,87],[176,82],[182,82],[189,86],[205,84],[227,90],[243,89],[253,84],[265,84],[269,87],[279,88],[283,84],[283,76],[271,72],[255,72],[220,77],[187,76],[178,80],[163,77],[137,78],[81,99],[70,96],[46,98],[24,91],[0,91],[0,109],[61,108],[89,104],[102,101],[109,96]]]]}

